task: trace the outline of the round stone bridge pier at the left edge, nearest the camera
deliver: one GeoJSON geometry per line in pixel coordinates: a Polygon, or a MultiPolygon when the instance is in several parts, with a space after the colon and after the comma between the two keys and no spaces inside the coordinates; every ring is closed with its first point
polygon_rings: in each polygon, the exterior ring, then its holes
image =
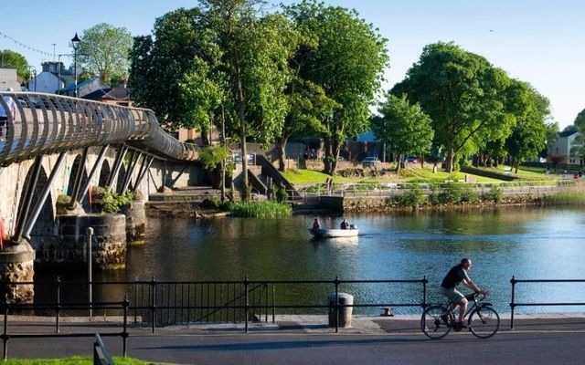
{"type": "Polygon", "coordinates": [[[32,303],[35,290],[32,284],[10,285],[8,282],[32,283],[35,262],[35,250],[21,241],[18,245],[8,245],[0,251],[0,295],[4,300],[7,295],[10,303],[32,303]]]}

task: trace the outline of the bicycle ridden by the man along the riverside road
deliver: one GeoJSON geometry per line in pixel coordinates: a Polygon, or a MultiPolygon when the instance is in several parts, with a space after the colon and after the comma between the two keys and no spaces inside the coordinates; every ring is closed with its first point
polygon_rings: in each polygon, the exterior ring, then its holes
{"type": "MultiPolygon", "coordinates": [[[[473,293],[465,298],[471,304],[464,318],[469,316],[467,320],[467,328],[473,335],[479,339],[489,339],[494,336],[498,328],[500,328],[500,316],[497,314],[491,303],[484,302],[485,295],[479,297],[479,293],[473,293]],[[478,298],[479,297],[479,298],[478,298]]],[[[455,322],[455,315],[452,310],[453,301],[449,301],[447,308],[441,305],[431,306],[422,312],[420,318],[420,328],[422,332],[430,339],[442,339],[451,330],[459,332],[463,329],[461,325],[455,322]],[[447,313],[448,320],[445,323],[441,316],[447,313]]]]}

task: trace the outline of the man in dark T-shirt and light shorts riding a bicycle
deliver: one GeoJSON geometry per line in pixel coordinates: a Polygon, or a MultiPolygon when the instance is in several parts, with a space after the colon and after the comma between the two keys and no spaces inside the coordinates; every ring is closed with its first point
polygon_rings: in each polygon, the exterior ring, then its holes
{"type": "MultiPolygon", "coordinates": [[[[449,270],[445,278],[442,279],[441,283],[441,294],[448,297],[449,300],[452,300],[453,302],[450,310],[455,310],[455,308],[459,306],[459,320],[455,323],[455,326],[460,326],[462,328],[467,328],[467,325],[463,323],[463,316],[465,315],[465,310],[467,310],[467,299],[457,290],[459,283],[463,282],[465,287],[469,287],[476,293],[487,294],[487,292],[476,286],[472,279],[467,275],[467,271],[469,271],[471,267],[472,260],[469,258],[463,258],[461,264],[452,266],[451,270],[449,270]]],[[[441,319],[445,324],[449,324],[449,313],[443,313],[441,319]]]]}

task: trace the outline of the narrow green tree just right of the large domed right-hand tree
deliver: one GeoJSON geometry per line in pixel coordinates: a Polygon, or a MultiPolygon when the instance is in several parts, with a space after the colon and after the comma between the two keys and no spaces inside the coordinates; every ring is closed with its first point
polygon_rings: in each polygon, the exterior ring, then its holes
{"type": "Polygon", "coordinates": [[[510,99],[514,99],[510,104],[516,125],[506,139],[505,147],[517,173],[520,163],[536,158],[547,144],[545,122],[550,114],[550,103],[532,86],[518,80],[512,80],[508,93],[512,94],[510,99]]]}

